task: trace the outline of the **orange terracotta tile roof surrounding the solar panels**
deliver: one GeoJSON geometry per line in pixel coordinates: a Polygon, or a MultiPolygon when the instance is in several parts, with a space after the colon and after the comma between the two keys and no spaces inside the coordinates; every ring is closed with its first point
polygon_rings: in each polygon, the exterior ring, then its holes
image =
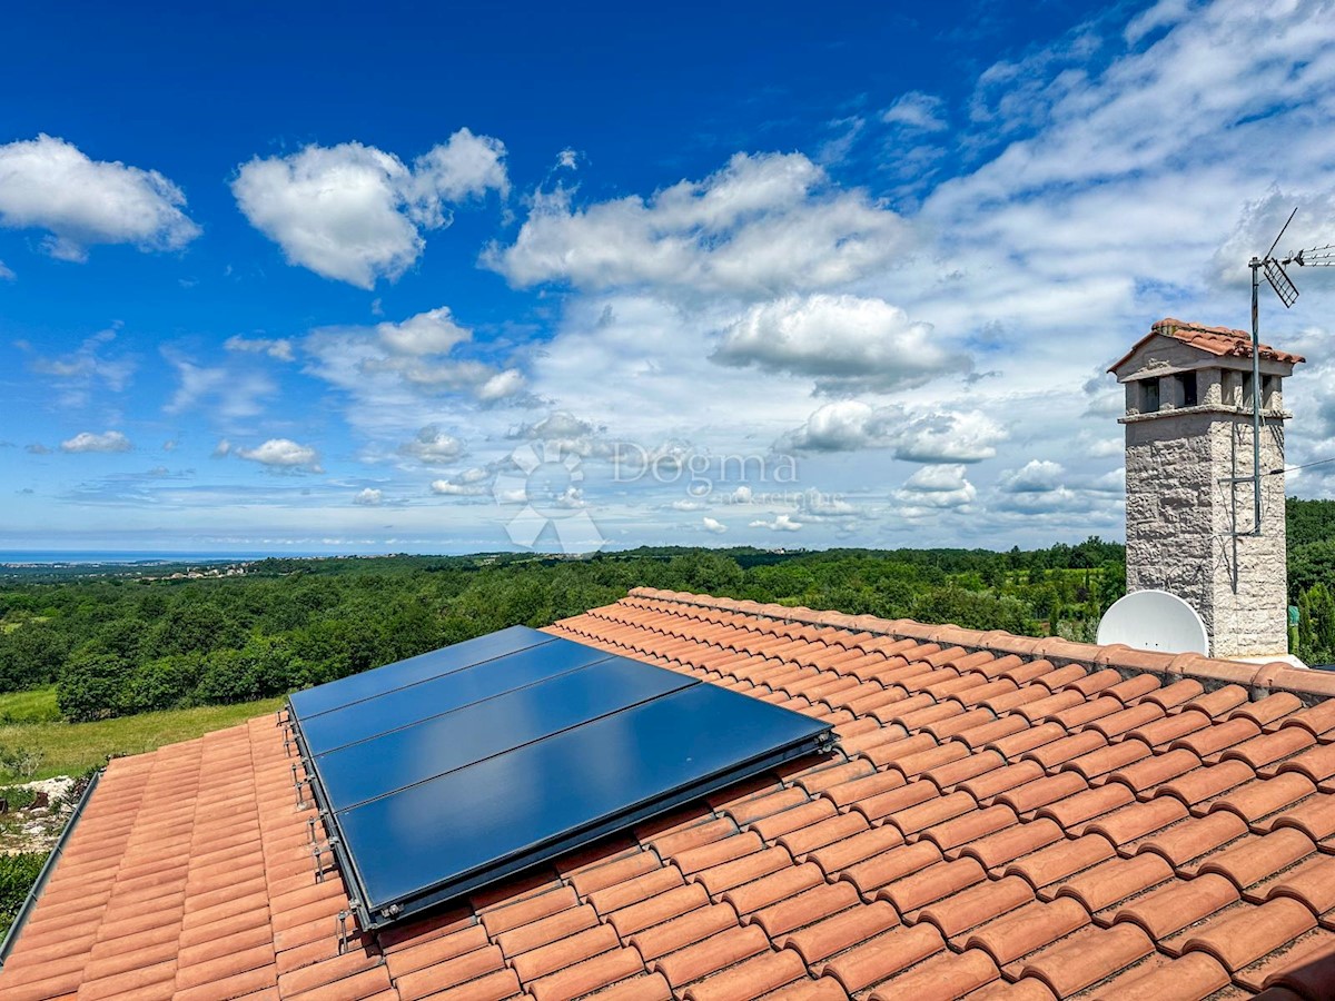
{"type": "Polygon", "coordinates": [[[343,952],[272,718],[116,759],[0,996],[1335,996],[1335,675],[645,590],[551,631],[841,749],[343,952]]]}

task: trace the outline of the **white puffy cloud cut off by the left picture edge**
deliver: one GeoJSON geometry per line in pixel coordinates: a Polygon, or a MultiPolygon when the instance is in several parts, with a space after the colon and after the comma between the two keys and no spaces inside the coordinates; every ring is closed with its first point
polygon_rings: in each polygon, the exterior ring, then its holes
{"type": "Polygon", "coordinates": [[[92,160],[45,133],[0,145],[0,223],[45,230],[44,250],[84,260],[97,243],[174,251],[199,236],[186,196],[158,171],[92,160]]]}

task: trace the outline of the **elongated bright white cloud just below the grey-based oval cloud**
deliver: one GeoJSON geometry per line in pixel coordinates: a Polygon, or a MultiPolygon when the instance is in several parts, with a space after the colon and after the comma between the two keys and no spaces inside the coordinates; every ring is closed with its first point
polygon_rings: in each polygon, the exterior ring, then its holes
{"type": "Polygon", "coordinates": [[[780,448],[845,452],[892,448],[896,459],[924,463],[983,462],[1007,431],[980,411],[910,412],[861,400],[826,403],[780,440],[780,448]]]}

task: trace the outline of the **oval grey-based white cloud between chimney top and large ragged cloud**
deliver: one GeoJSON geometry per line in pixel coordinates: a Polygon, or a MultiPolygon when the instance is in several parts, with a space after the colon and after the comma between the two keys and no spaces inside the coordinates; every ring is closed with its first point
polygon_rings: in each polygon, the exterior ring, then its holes
{"type": "Polygon", "coordinates": [[[750,307],[714,352],[722,364],[816,376],[821,390],[917,386],[972,363],[932,339],[928,323],[882,299],[784,296],[750,307]]]}

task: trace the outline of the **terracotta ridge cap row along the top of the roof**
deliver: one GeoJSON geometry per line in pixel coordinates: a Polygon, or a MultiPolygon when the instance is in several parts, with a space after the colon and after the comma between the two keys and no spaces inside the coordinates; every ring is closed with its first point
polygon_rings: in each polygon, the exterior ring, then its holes
{"type": "Polygon", "coordinates": [[[968,653],[987,651],[999,657],[1041,657],[1055,666],[1077,663],[1092,670],[1112,669],[1120,674],[1153,674],[1168,681],[1183,678],[1199,682],[1207,690],[1224,685],[1240,685],[1251,698],[1264,698],[1276,691],[1288,691],[1307,705],[1335,698],[1335,674],[1294,667],[1286,661],[1246,663],[1200,654],[1169,654],[1156,650],[1136,650],[1123,643],[1099,646],[1075,643],[1060,637],[1019,637],[1005,630],[980,631],[956,625],[933,625],[913,619],[882,619],[876,615],[846,615],[841,611],[820,611],[804,606],[765,605],[736,598],[714,598],[689,591],[661,591],[654,587],[635,587],[631,597],[653,598],[677,605],[774,619],[806,626],[846,629],[854,633],[917,639],[924,643],[957,646],[968,653]]]}

